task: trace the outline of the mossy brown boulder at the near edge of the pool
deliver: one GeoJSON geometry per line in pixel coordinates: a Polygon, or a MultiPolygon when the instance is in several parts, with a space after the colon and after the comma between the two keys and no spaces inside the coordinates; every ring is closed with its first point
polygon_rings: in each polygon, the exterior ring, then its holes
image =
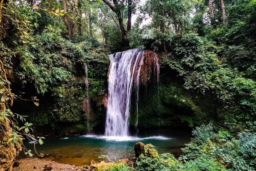
{"type": "Polygon", "coordinates": [[[154,148],[152,144],[143,144],[142,142],[137,142],[134,145],[134,151],[135,151],[135,156],[137,158],[139,158],[141,154],[147,157],[153,157],[153,158],[159,157],[158,151],[154,148]]]}

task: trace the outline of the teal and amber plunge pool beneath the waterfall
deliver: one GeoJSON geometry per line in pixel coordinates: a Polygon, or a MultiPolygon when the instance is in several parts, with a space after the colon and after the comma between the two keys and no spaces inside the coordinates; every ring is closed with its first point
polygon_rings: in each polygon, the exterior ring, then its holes
{"type": "MultiPolygon", "coordinates": [[[[179,132],[171,134],[168,130],[144,133],[138,137],[107,137],[101,135],[82,135],[68,137],[47,137],[43,145],[37,145],[37,152],[44,153],[47,158],[54,161],[86,165],[93,160],[98,160],[101,154],[108,155],[110,160],[129,158],[134,159],[134,144],[141,141],[156,146],[159,153],[179,153],[179,146],[188,143],[190,134],[179,132]],[[178,148],[177,148],[178,146],[178,148]],[[178,151],[177,151],[178,150],[178,151]]],[[[33,144],[27,144],[33,149],[33,144]]],[[[21,154],[22,156],[22,154],[21,154]]]]}

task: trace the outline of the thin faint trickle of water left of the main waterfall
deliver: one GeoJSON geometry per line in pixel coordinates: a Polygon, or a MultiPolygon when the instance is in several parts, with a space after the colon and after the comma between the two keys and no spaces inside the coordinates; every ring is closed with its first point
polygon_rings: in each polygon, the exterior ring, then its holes
{"type": "Polygon", "coordinates": [[[88,69],[87,69],[87,64],[84,62],[83,63],[84,67],[84,85],[85,85],[85,92],[86,92],[86,97],[83,99],[82,104],[83,104],[83,111],[86,114],[87,118],[87,129],[89,130],[89,120],[90,120],[90,99],[89,99],[89,81],[88,81],[88,69]]]}

